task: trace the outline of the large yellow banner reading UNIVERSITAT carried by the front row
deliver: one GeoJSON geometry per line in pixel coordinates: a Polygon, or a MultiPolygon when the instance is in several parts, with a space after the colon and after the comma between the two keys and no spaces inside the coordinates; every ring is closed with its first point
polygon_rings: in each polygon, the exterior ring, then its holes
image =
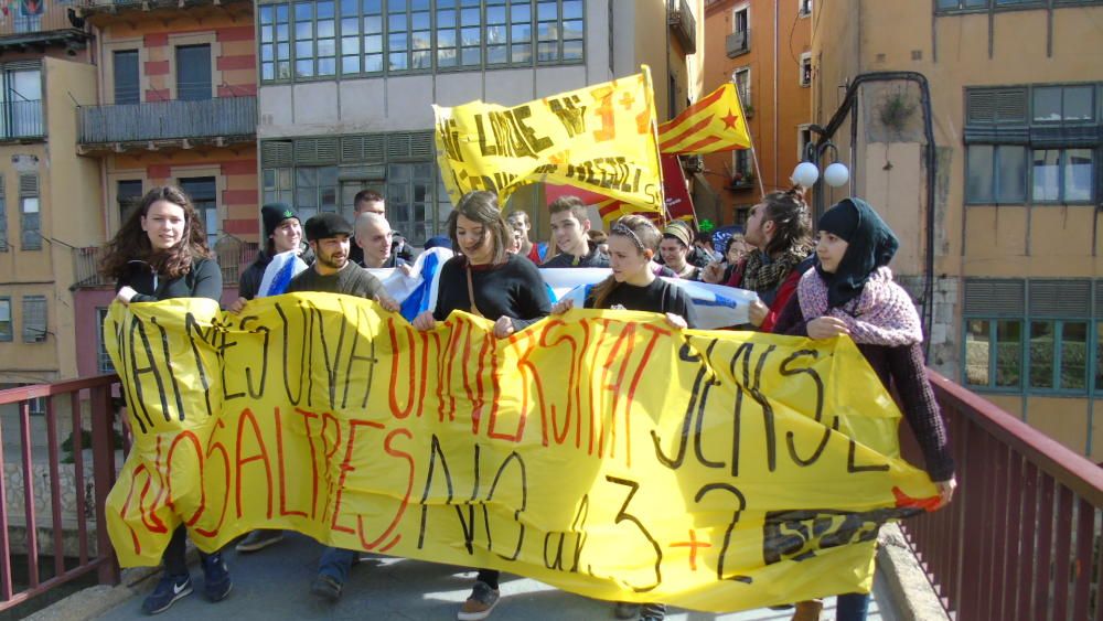
{"type": "Polygon", "coordinates": [[[887,520],[936,496],[848,340],[575,310],[507,340],[330,293],[115,304],[135,433],[107,502],[125,566],[181,523],[491,567],[725,611],[868,589],[887,520]]]}

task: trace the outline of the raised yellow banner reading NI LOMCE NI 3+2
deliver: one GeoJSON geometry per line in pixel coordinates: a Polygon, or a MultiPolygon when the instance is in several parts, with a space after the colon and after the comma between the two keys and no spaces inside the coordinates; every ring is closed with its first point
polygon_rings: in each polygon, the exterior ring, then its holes
{"type": "Polygon", "coordinates": [[[663,211],[651,71],[506,108],[433,106],[437,162],[457,203],[472,190],[574,185],[663,211]]]}

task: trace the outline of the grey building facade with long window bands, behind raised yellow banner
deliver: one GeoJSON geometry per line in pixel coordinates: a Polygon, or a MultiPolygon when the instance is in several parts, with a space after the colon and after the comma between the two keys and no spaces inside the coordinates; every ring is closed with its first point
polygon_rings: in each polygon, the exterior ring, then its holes
{"type": "MultiPolygon", "coordinates": [[[[257,129],[265,202],[352,215],[386,199],[414,244],[451,211],[435,163],[433,104],[516,105],[640,71],[660,120],[700,88],[700,0],[261,1],[257,129]]],[[[511,199],[547,238],[540,186],[511,199]]]]}

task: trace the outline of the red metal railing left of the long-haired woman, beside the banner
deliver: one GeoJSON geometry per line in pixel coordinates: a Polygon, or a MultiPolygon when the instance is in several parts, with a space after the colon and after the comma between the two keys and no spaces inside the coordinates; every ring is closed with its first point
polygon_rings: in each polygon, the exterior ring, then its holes
{"type": "MultiPolygon", "coordinates": [[[[0,464],[3,464],[3,472],[0,472],[0,611],[10,609],[28,599],[53,589],[60,585],[68,582],[85,574],[97,570],[100,583],[117,583],[119,580],[119,567],[115,559],[115,552],[111,548],[110,539],[107,536],[106,522],[104,520],[104,504],[107,493],[115,483],[117,472],[117,458],[115,451],[114,422],[115,409],[113,407],[113,387],[118,385],[117,375],[100,375],[85,379],[74,379],[58,382],[55,384],[40,384],[34,386],[23,386],[0,390],[0,464]],[[35,399],[40,399],[35,401],[35,399]],[[39,425],[39,417],[32,416],[31,405],[44,401],[44,429],[39,425]],[[64,414],[58,414],[67,407],[69,420],[64,420],[64,414]],[[15,411],[12,413],[11,410],[15,411]],[[88,416],[85,416],[87,413],[88,416]],[[12,415],[18,418],[18,429],[11,429],[12,415]],[[82,421],[88,418],[92,429],[92,483],[93,499],[86,497],[87,475],[84,458],[84,439],[82,421]],[[58,441],[58,429],[69,422],[72,433],[72,492],[73,506],[65,507],[63,497],[69,491],[63,490],[62,469],[68,469],[68,464],[62,464],[58,441]],[[4,427],[3,424],[8,424],[4,427]],[[4,447],[11,447],[11,435],[18,432],[19,458],[12,460],[15,465],[9,469],[3,454],[4,447]],[[40,576],[39,563],[42,549],[39,542],[39,529],[44,526],[46,520],[43,510],[36,506],[36,479],[35,463],[42,463],[42,445],[45,445],[45,468],[49,479],[49,524],[53,533],[50,542],[53,549],[53,576],[42,579],[40,576]],[[11,474],[9,477],[9,473],[11,474]],[[21,474],[21,477],[19,477],[21,474]],[[18,520],[10,510],[9,497],[10,486],[22,485],[22,494],[13,494],[17,499],[22,496],[22,517],[25,527],[25,557],[26,557],[26,579],[25,585],[17,585],[13,579],[12,554],[13,554],[13,526],[18,528],[18,520]],[[94,524],[89,524],[89,503],[95,508],[94,524]],[[72,523],[65,523],[65,514],[72,516],[72,523]],[[89,542],[89,526],[94,526],[92,533],[93,540],[89,542]],[[66,543],[66,534],[72,536],[75,531],[75,544],[66,543]],[[92,549],[94,544],[95,549],[92,549]],[[67,567],[68,566],[68,567],[67,567]]],[[[66,472],[68,474],[68,472],[66,472]]],[[[67,483],[67,482],[66,482],[67,483]]],[[[18,511],[18,507],[17,507],[18,511]]],[[[49,554],[49,553],[47,553],[49,554]]]]}

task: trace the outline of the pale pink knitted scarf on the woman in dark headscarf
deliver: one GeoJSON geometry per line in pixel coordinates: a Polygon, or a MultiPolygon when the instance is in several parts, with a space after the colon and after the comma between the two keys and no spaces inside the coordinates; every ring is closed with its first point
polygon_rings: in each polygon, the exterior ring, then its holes
{"type": "Polygon", "coordinates": [[[829,306],[828,285],[817,270],[805,271],[796,291],[805,321],[825,315],[840,319],[855,343],[899,346],[923,341],[919,313],[908,292],[892,281],[888,267],[870,272],[858,295],[842,307],[829,306]]]}

